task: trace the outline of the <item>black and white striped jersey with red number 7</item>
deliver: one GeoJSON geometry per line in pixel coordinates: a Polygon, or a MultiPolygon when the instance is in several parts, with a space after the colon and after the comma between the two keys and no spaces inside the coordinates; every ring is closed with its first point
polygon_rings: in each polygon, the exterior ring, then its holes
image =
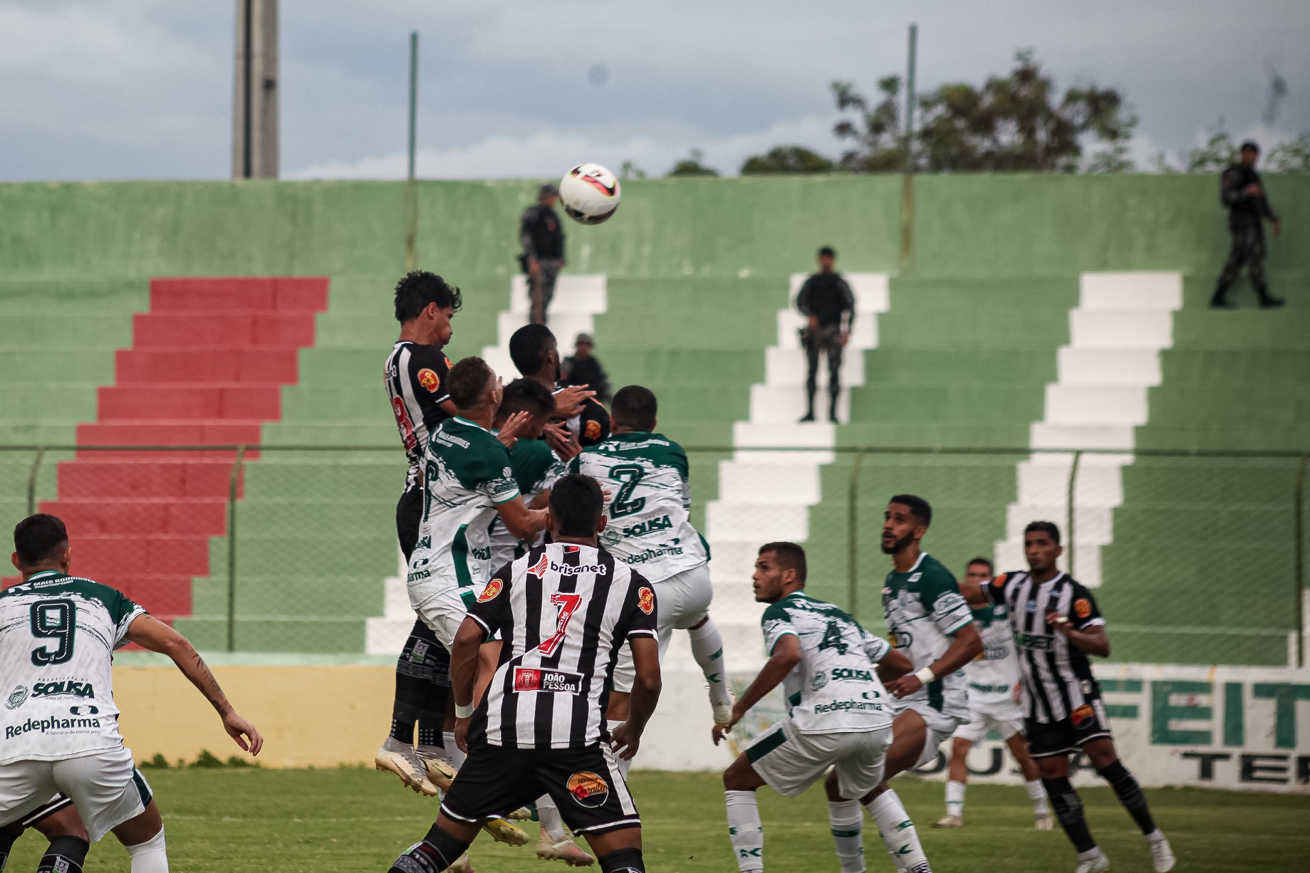
{"type": "Polygon", "coordinates": [[[658,639],[655,589],[604,548],[548,543],[496,572],[469,618],[499,632],[500,664],[469,725],[507,749],[586,749],[607,741],[618,653],[658,639]]]}

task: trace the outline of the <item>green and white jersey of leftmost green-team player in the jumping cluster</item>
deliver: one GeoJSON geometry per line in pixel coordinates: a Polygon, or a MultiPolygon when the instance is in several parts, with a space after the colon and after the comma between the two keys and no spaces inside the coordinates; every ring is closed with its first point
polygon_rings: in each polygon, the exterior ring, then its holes
{"type": "Polygon", "coordinates": [[[423,521],[406,577],[410,605],[418,609],[447,589],[470,603],[494,569],[496,504],[519,496],[510,450],[486,428],[455,416],[432,431],[423,463],[423,521]]]}

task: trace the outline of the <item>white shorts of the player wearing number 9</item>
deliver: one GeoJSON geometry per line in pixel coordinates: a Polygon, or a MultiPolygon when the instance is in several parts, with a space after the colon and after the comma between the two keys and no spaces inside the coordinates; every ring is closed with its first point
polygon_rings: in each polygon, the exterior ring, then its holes
{"type": "Polygon", "coordinates": [[[0,764],[0,825],[26,818],[63,792],[77,804],[93,843],[151,802],[151,787],[119,746],[63,760],[13,760],[0,764]]]}

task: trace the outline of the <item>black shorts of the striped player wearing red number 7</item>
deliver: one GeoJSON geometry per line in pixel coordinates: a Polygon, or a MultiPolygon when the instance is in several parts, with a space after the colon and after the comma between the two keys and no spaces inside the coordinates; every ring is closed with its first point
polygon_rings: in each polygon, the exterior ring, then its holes
{"type": "Polygon", "coordinates": [[[507,815],[550,794],[575,834],[641,827],[618,759],[609,749],[503,749],[478,742],[441,801],[457,822],[507,815]]]}

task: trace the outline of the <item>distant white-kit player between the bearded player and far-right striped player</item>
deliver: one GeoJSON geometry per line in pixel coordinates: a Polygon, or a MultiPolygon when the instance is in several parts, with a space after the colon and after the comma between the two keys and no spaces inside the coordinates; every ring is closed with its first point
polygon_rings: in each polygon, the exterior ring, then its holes
{"type": "MultiPolygon", "coordinates": [[[[992,561],[975,558],[964,568],[965,585],[992,581],[992,561]]],[[[964,586],[962,586],[962,590],[964,586]]],[[[964,665],[969,681],[969,721],[955,730],[951,741],[951,771],[946,783],[946,818],[933,827],[964,826],[964,785],[969,777],[969,749],[986,739],[989,730],[1001,734],[1015,763],[1023,771],[1024,788],[1032,801],[1032,817],[1039,831],[1051,830],[1051,808],[1041,787],[1038,766],[1028,757],[1023,741],[1023,683],[1019,679],[1019,657],[1014,649],[1014,632],[1005,606],[973,610],[973,623],[982,636],[982,656],[964,665]]]]}

